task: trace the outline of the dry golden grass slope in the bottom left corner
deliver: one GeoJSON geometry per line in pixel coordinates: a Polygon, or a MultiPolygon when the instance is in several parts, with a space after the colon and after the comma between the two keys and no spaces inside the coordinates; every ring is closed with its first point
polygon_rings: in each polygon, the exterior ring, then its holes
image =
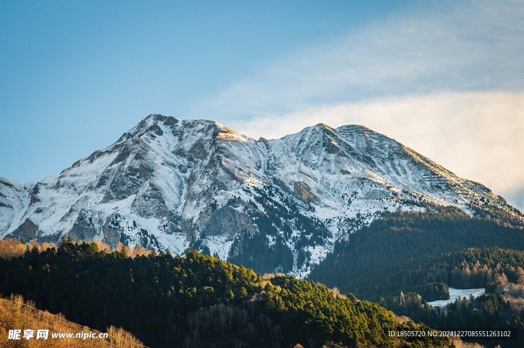
{"type": "Polygon", "coordinates": [[[108,338],[90,338],[90,339],[57,339],[51,338],[51,333],[82,333],[82,332],[96,332],[88,327],[82,327],[71,321],[66,320],[62,315],[53,315],[47,311],[41,311],[35,308],[32,301],[24,301],[19,296],[11,296],[10,298],[0,298],[0,346],[6,348],[18,347],[119,347],[119,348],[139,348],[144,347],[142,342],[135,338],[131,333],[122,328],[110,327],[107,329],[108,338]],[[9,340],[9,330],[49,330],[47,340],[36,340],[31,338],[29,340],[9,340]]]}

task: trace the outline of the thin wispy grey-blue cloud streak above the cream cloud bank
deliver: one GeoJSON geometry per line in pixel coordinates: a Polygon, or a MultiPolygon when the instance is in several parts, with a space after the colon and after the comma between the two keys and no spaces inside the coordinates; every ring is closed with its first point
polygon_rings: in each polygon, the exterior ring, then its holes
{"type": "Polygon", "coordinates": [[[524,2],[426,4],[272,62],[196,113],[245,118],[376,96],[524,88],[524,2]]]}

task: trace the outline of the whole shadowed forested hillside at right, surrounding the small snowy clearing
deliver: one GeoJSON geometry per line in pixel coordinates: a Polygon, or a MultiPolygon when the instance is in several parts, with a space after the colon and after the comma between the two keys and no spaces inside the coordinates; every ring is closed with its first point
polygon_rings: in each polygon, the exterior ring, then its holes
{"type": "MultiPolygon", "coordinates": [[[[511,327],[522,340],[522,222],[504,212],[488,215],[478,206],[472,208],[475,217],[452,207],[387,213],[339,241],[310,279],[432,327],[511,327]],[[443,308],[427,304],[449,298],[449,287],[485,288],[486,294],[443,308]]],[[[520,346],[517,341],[496,343],[520,346]]]]}

